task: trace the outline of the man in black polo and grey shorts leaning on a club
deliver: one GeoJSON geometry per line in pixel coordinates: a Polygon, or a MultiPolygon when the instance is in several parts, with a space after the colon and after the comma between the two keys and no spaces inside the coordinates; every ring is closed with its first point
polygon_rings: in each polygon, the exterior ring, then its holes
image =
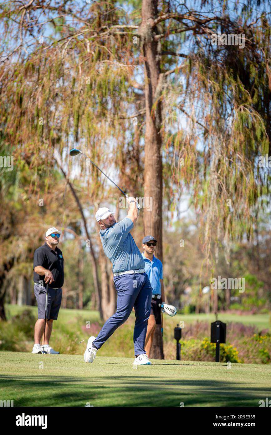
{"type": "Polygon", "coordinates": [[[34,346],[32,353],[43,351],[43,331],[46,304],[46,284],[48,283],[48,303],[46,309],[46,329],[44,338],[44,351],[49,354],[59,354],[49,346],[50,335],[53,328],[53,320],[61,305],[62,286],[64,284],[64,258],[57,248],[61,232],[57,228],[49,228],[46,231],[46,242],[34,253],[34,294],[38,305],[38,320],[34,331],[34,346]],[[52,284],[52,285],[50,285],[52,284]],[[50,286],[50,287],[49,287],[50,286]],[[54,286],[54,287],[53,287],[54,286]],[[42,344],[40,344],[40,341],[42,344]]]}

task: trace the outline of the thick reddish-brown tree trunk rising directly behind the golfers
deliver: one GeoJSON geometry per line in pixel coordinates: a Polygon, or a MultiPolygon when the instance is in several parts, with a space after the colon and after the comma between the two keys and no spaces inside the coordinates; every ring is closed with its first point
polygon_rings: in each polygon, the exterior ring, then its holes
{"type": "MultiPolygon", "coordinates": [[[[162,158],[161,158],[161,102],[160,84],[163,75],[160,74],[159,45],[154,41],[152,24],[157,17],[157,0],[143,0],[142,23],[140,27],[143,41],[145,66],[145,104],[146,104],[146,134],[145,134],[145,167],[144,167],[144,197],[152,203],[152,210],[144,209],[144,235],[151,234],[157,239],[155,255],[163,261],[162,250],[162,158]],[[158,83],[160,80],[160,83],[158,83]],[[153,104],[157,103],[155,110],[153,104]],[[152,201],[152,202],[151,202],[152,201]]],[[[164,359],[161,326],[157,326],[151,355],[156,359],[164,359]]]]}

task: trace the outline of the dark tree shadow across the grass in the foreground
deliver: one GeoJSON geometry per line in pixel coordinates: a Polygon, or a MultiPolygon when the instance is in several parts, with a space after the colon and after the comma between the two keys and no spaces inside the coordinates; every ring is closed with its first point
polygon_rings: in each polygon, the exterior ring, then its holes
{"type": "Polygon", "coordinates": [[[267,388],[248,382],[163,380],[154,376],[9,376],[0,375],[2,393],[14,406],[257,406],[267,388]],[[179,387],[179,388],[178,388],[179,387]],[[4,390],[6,388],[6,391],[4,390]],[[13,397],[11,395],[13,394],[13,397]]]}

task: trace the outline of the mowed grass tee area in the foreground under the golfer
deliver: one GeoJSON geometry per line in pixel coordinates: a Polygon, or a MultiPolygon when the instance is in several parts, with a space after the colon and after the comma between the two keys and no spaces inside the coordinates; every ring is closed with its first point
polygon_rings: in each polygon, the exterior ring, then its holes
{"type": "MultiPolygon", "coordinates": [[[[98,355],[98,354],[97,354],[98,355]]],[[[271,366],[0,353],[0,400],[17,406],[253,406],[271,397],[271,366]],[[43,368],[39,368],[43,367],[43,368]]]]}

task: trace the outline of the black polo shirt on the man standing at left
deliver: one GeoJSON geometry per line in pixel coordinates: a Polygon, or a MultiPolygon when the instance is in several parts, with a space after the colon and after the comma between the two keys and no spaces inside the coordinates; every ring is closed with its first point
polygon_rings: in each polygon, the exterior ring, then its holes
{"type": "MultiPolygon", "coordinates": [[[[42,266],[45,269],[50,270],[54,277],[54,281],[48,286],[54,288],[60,288],[64,284],[64,258],[62,252],[59,248],[54,251],[45,242],[43,246],[37,248],[34,252],[34,265],[33,270],[36,266],[42,266]]],[[[45,284],[45,275],[39,275],[34,271],[34,282],[43,281],[45,284]]]]}

